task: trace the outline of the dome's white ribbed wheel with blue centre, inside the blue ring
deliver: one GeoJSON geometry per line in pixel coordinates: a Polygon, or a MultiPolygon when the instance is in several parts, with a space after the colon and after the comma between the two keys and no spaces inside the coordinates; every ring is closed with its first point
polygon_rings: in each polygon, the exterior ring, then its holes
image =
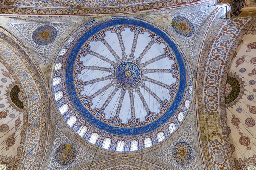
{"type": "Polygon", "coordinates": [[[71,56],[76,56],[75,72],[67,70],[88,114],[114,127],[141,127],[156,121],[172,106],[180,80],[170,45],[140,25],[93,31],[77,55],[71,56]]]}

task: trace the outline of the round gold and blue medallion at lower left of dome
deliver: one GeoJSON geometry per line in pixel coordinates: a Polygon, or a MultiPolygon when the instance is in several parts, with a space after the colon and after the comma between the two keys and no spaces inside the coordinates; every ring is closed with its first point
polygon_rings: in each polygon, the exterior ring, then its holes
{"type": "Polygon", "coordinates": [[[71,164],[76,158],[76,149],[72,144],[61,144],[55,150],[55,159],[61,165],[71,164]]]}

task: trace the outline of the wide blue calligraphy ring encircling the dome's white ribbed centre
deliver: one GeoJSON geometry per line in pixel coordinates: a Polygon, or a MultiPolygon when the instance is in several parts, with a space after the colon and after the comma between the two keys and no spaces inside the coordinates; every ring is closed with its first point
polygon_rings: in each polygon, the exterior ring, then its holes
{"type": "Polygon", "coordinates": [[[157,27],[153,26],[152,24],[142,22],[141,20],[135,20],[135,19],[112,19],[107,20],[101,24],[98,24],[96,26],[93,26],[92,28],[88,29],[86,32],[84,32],[83,35],[76,41],[76,43],[73,45],[73,48],[70,51],[69,56],[67,57],[67,64],[65,68],[65,86],[67,88],[67,94],[70,99],[70,101],[73,103],[76,111],[91,125],[94,127],[104,130],[105,132],[112,133],[115,135],[141,135],[145,133],[149,133],[153,130],[155,130],[157,127],[160,127],[162,124],[164,124],[166,121],[169,120],[169,118],[172,117],[172,115],[177,111],[179,108],[186,89],[186,68],[183,61],[183,57],[180,54],[180,51],[178,50],[175,43],[172,41],[172,39],[162,30],[158,29],[157,27]],[[177,63],[180,69],[180,84],[177,87],[177,95],[172,103],[172,105],[169,107],[169,109],[156,121],[152,121],[152,123],[147,124],[143,127],[116,127],[111,126],[109,124],[106,124],[103,121],[100,121],[96,117],[94,117],[90,112],[87,111],[87,109],[84,108],[83,103],[84,101],[80,101],[79,96],[76,93],[76,87],[74,84],[74,77],[73,77],[73,70],[75,70],[76,67],[76,56],[81,50],[81,46],[92,36],[95,36],[95,34],[107,27],[110,26],[120,26],[120,24],[130,24],[133,26],[140,26],[145,29],[149,29],[152,32],[154,32],[158,37],[161,37],[165,42],[168,43],[169,47],[172,49],[172,52],[175,54],[177,58],[177,63]]]}

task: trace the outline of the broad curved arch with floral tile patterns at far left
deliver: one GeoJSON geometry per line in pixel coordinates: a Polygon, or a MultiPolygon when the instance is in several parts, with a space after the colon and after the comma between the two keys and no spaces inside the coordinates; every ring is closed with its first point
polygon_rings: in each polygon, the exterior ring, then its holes
{"type": "MultiPolygon", "coordinates": [[[[26,48],[21,47],[17,43],[19,41],[2,28],[0,28],[0,39],[1,59],[8,66],[11,75],[20,81],[20,84],[18,84],[20,91],[23,91],[23,96],[26,98],[23,102],[24,118],[22,133],[20,133],[21,143],[17,150],[13,168],[23,169],[26,167],[30,169],[34,164],[38,164],[38,160],[42,156],[43,141],[48,135],[45,133],[49,113],[47,89],[42,86],[44,79],[40,76],[41,72],[34,65],[26,48]],[[37,133],[29,133],[33,131],[37,133]]],[[[12,93],[12,90],[9,90],[9,92],[12,93]]],[[[20,100],[22,99],[20,98],[20,100]]],[[[17,107],[21,109],[20,105],[17,105],[17,107]]]]}

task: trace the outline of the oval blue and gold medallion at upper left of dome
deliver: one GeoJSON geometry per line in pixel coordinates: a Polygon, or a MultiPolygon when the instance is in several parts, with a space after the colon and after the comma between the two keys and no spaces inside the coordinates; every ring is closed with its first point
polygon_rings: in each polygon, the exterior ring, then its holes
{"type": "Polygon", "coordinates": [[[38,45],[46,46],[55,40],[57,34],[57,29],[54,26],[43,25],[35,29],[32,40],[38,45]]]}

